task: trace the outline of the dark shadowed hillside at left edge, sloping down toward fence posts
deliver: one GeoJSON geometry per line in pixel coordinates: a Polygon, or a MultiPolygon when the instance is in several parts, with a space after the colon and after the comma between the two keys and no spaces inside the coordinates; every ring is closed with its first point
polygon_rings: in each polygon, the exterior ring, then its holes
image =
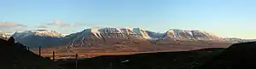
{"type": "Polygon", "coordinates": [[[10,37],[8,41],[0,39],[0,46],[0,69],[57,69],[50,60],[15,43],[14,37],[10,37]]]}

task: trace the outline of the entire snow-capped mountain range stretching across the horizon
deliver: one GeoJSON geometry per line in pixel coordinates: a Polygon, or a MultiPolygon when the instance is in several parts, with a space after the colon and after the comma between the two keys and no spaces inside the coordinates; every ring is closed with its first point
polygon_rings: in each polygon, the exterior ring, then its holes
{"type": "MultiPolygon", "coordinates": [[[[8,38],[5,32],[0,32],[0,37],[8,38]]],[[[15,32],[11,37],[15,37],[16,42],[30,47],[102,47],[113,45],[149,45],[159,42],[178,41],[206,41],[239,43],[244,42],[240,38],[218,37],[210,32],[199,30],[169,29],[166,32],[151,32],[142,28],[89,28],[82,32],[64,35],[48,30],[34,30],[15,32]]]]}

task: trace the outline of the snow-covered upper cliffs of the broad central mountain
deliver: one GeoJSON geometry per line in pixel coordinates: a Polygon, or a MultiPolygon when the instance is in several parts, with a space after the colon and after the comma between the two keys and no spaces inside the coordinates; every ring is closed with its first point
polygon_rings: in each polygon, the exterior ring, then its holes
{"type": "Polygon", "coordinates": [[[137,38],[150,38],[148,33],[141,28],[113,28],[113,27],[106,27],[106,28],[92,28],[92,29],[85,29],[83,33],[92,33],[94,36],[98,38],[102,38],[102,34],[106,35],[106,37],[137,37],[137,38]]]}

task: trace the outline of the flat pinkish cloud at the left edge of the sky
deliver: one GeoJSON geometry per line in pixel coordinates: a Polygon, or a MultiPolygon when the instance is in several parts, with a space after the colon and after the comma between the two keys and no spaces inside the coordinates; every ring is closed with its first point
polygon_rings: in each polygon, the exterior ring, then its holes
{"type": "Polygon", "coordinates": [[[0,27],[17,27],[17,26],[26,27],[25,25],[22,25],[16,22],[0,22],[0,27]]]}

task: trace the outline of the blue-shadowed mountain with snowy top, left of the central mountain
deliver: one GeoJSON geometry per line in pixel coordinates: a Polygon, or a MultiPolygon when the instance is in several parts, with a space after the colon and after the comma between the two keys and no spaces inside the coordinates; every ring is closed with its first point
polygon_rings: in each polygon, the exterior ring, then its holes
{"type": "Polygon", "coordinates": [[[35,30],[15,32],[12,37],[15,37],[16,42],[25,44],[30,47],[49,47],[56,43],[60,43],[61,33],[47,30],[35,30]]]}

